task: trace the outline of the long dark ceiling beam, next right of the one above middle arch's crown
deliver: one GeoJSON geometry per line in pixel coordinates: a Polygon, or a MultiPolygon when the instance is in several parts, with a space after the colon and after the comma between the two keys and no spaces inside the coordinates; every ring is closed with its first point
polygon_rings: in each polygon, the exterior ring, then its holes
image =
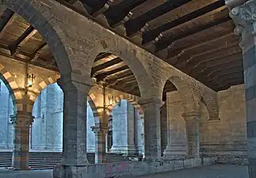
{"type": "Polygon", "coordinates": [[[152,21],[153,19],[160,17],[165,13],[170,13],[173,9],[176,9],[179,6],[183,6],[184,4],[191,2],[192,0],[172,0],[167,1],[160,6],[157,6],[154,9],[149,10],[146,13],[143,13],[141,16],[131,19],[127,21],[125,24],[126,27],[126,35],[134,36],[134,34],[138,33],[147,22],[152,21]]]}

